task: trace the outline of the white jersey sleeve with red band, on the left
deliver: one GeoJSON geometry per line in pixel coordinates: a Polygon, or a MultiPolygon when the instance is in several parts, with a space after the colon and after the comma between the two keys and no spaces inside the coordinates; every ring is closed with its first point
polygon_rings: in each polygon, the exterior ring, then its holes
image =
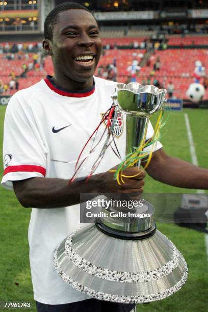
{"type": "Polygon", "coordinates": [[[44,177],[47,150],[26,100],[13,95],[4,124],[4,176],[2,186],[13,189],[12,181],[44,177]]]}

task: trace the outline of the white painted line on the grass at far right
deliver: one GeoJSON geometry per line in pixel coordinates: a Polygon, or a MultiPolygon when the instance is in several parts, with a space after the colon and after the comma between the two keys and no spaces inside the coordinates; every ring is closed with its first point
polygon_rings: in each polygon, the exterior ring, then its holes
{"type": "MultiPolygon", "coordinates": [[[[196,149],[194,146],[194,140],[193,140],[191,126],[190,126],[189,117],[187,113],[184,114],[184,117],[185,117],[185,122],[186,122],[186,127],[187,127],[187,134],[188,134],[192,164],[198,166],[199,164],[197,160],[196,149]]],[[[197,193],[204,193],[204,190],[197,190],[197,193]]],[[[205,247],[206,247],[206,254],[207,254],[207,259],[208,259],[208,234],[205,234],[205,247]]]]}

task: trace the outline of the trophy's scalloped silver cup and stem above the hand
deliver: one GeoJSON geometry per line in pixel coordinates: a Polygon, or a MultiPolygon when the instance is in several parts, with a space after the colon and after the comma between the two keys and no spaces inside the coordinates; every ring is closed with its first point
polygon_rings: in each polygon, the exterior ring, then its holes
{"type": "Polygon", "coordinates": [[[146,137],[149,117],[164,107],[165,94],[165,89],[138,83],[116,86],[113,101],[126,115],[126,155],[146,137]]]}

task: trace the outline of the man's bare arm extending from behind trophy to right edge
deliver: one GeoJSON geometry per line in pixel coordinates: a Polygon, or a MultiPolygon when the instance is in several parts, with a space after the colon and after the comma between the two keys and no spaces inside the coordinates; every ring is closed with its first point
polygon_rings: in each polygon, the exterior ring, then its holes
{"type": "MultiPolygon", "coordinates": [[[[145,162],[142,163],[145,165],[145,162]]],[[[153,153],[146,169],[155,180],[179,188],[208,189],[208,169],[168,156],[161,148],[153,153]]]]}

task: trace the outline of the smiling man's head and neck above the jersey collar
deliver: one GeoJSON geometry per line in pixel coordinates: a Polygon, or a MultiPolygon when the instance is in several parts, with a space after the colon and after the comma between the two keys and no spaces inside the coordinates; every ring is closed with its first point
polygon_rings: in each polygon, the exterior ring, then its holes
{"type": "MultiPolygon", "coordinates": [[[[64,5],[54,13],[60,8],[64,5]]],[[[85,8],[60,11],[55,19],[49,14],[45,20],[45,38],[43,47],[53,60],[54,82],[67,90],[90,89],[102,50],[98,25],[92,14],[85,8]]]]}

